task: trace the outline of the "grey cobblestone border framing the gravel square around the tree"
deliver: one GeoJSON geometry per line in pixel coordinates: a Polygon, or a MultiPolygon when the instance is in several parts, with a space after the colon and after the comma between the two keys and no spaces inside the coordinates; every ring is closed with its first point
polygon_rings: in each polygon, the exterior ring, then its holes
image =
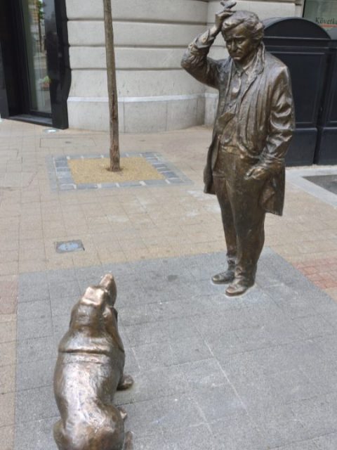
{"type": "Polygon", "coordinates": [[[46,162],[51,189],[52,191],[73,191],[74,189],[130,188],[136,186],[177,186],[192,183],[183,172],[176,169],[170,162],[164,161],[158,153],[121,153],[121,158],[134,157],[145,158],[159,174],[164,176],[164,179],[124,181],[124,183],[76,184],[68,165],[69,160],[109,158],[109,155],[62,155],[49,157],[46,162]]]}

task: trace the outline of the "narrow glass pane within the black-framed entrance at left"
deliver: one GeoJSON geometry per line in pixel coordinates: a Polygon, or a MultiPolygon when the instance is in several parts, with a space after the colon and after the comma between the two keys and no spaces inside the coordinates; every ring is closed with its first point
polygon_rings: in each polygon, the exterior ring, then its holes
{"type": "MultiPolygon", "coordinates": [[[[25,34],[26,65],[28,75],[29,113],[51,117],[51,96],[48,77],[45,9],[43,0],[21,0],[25,34]]],[[[23,76],[23,74],[22,74],[23,76]]]]}

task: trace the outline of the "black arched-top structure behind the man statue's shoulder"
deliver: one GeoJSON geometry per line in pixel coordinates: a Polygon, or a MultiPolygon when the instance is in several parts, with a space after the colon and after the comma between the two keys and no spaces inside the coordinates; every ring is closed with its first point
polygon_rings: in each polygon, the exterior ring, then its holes
{"type": "Polygon", "coordinates": [[[293,84],[296,131],[287,165],[337,164],[335,6],[337,0],[307,0],[310,20],[265,20],[266,48],[286,63],[293,84]]]}

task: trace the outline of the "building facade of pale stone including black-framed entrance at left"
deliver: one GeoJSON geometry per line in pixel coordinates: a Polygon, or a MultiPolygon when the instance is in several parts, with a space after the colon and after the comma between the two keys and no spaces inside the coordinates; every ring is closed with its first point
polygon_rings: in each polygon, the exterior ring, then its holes
{"type": "MultiPolygon", "coordinates": [[[[237,0],[236,8],[261,19],[304,10],[329,21],[324,2],[331,0],[237,0]]],[[[180,60],[219,9],[218,0],[112,0],[122,132],[213,122],[216,92],[187,75],[180,60]]],[[[0,20],[1,116],[107,130],[103,1],[0,0],[0,20]]],[[[225,54],[219,37],[211,56],[225,54]]]]}

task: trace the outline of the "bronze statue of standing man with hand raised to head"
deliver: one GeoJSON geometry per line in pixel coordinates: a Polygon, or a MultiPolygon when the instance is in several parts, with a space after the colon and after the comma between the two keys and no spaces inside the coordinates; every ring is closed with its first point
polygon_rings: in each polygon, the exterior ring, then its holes
{"type": "Polygon", "coordinates": [[[255,282],[265,213],[282,215],[293,96],[288,68],[265,51],[258,16],[232,11],[234,1],[220,3],[215,25],[192,41],[182,66],[219,91],[204,191],[218,198],[228,266],[212,280],[230,283],[227,295],[241,295],[255,282]],[[220,32],[229,58],[213,60],[207,54],[220,32]]]}

